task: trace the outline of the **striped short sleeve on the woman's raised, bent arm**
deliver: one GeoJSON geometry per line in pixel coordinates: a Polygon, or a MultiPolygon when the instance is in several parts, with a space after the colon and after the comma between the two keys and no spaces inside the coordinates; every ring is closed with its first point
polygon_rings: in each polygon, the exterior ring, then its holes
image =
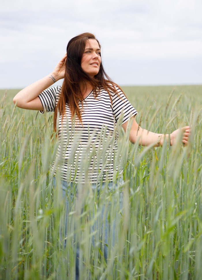
{"type": "Polygon", "coordinates": [[[55,110],[57,96],[60,94],[60,92],[61,86],[55,86],[45,89],[42,93],[40,93],[39,99],[41,100],[44,108],[44,110],[40,111],[40,113],[43,114],[44,111],[53,112],[55,110]]]}

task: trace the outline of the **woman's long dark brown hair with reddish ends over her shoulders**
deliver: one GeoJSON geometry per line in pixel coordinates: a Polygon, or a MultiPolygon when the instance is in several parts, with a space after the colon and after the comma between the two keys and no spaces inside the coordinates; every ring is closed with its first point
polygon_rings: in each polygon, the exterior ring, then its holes
{"type": "MultiPolygon", "coordinates": [[[[115,89],[115,85],[117,84],[113,83],[113,81],[111,81],[109,76],[104,71],[102,61],[100,64],[99,72],[94,77],[90,77],[81,68],[81,58],[85,50],[86,41],[88,39],[95,39],[98,42],[95,36],[91,33],[82,33],[72,38],[68,42],[64,81],[62,84],[61,94],[53,116],[53,126],[55,131],[57,125],[57,112],[59,112],[59,114],[63,117],[63,115],[65,115],[66,104],[68,104],[70,107],[72,117],[76,115],[78,117],[78,120],[82,123],[82,110],[78,106],[78,102],[81,100],[83,109],[83,96],[80,88],[82,84],[85,85],[87,82],[92,86],[93,95],[95,98],[97,96],[96,89],[101,88],[107,90],[110,99],[110,90],[118,94],[118,92],[115,89]]],[[[99,42],[98,45],[101,48],[99,42]]]]}

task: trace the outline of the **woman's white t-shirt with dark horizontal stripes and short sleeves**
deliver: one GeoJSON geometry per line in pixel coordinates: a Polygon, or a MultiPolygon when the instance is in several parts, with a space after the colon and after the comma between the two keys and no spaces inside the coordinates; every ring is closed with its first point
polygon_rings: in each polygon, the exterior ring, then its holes
{"type": "MultiPolygon", "coordinates": [[[[90,92],[83,100],[82,124],[71,119],[66,104],[66,115],[62,121],[60,115],[58,120],[59,146],[52,165],[54,173],[59,172],[61,179],[96,183],[112,181],[114,175],[120,175],[117,122],[123,124],[137,111],[120,89],[118,92],[119,96],[110,91],[112,102],[105,89],[101,89],[96,98],[90,92]]],[[[60,93],[61,86],[55,86],[39,95],[44,111],[55,110],[60,93]]],[[[82,109],[81,102],[78,105],[82,109]]]]}

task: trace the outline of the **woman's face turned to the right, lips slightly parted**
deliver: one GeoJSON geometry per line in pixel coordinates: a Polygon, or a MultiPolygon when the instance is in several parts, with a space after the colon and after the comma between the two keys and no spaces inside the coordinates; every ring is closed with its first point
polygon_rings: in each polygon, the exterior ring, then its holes
{"type": "Polygon", "coordinates": [[[100,47],[95,39],[86,41],[85,50],[81,58],[81,68],[89,76],[93,77],[100,70],[100,47]]]}

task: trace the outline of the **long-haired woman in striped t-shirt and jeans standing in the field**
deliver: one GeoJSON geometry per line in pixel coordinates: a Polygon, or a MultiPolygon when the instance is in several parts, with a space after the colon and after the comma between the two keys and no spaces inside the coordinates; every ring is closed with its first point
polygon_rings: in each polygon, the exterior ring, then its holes
{"type": "MultiPolygon", "coordinates": [[[[61,178],[64,197],[67,187],[73,184],[89,183],[99,192],[105,185],[111,190],[122,183],[121,167],[117,160],[117,137],[113,141],[117,123],[125,132],[129,129],[130,141],[138,141],[144,146],[162,146],[169,139],[170,145],[173,145],[180,132],[178,129],[164,135],[139,127],[134,118],[136,110],[103,69],[100,48],[98,40],[91,33],[72,38],[66,55],[53,72],[21,90],[13,99],[23,109],[40,110],[42,113],[54,111],[54,130],[58,135],[59,147],[52,168],[55,175],[61,178]],[[51,87],[63,78],[62,86],[51,87]],[[105,161],[101,156],[103,151],[105,161]]],[[[189,127],[182,130],[182,143],[187,145],[189,127]]],[[[107,218],[104,235],[104,243],[107,244],[107,218]]]]}

